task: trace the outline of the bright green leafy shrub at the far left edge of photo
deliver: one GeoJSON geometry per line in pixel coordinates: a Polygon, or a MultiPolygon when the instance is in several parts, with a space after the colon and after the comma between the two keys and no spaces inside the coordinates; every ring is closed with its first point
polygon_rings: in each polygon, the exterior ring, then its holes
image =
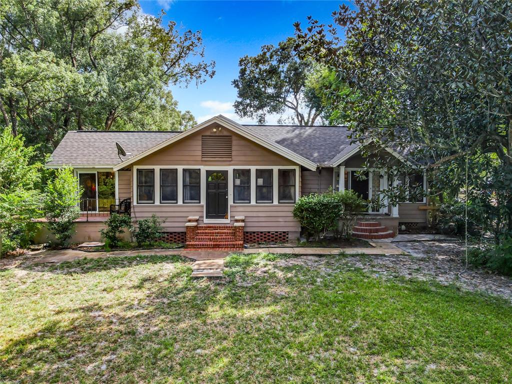
{"type": "Polygon", "coordinates": [[[27,246],[39,224],[41,195],[35,188],[39,163],[32,163],[33,147],[10,130],[0,133],[0,242],[2,253],[27,246]]]}

